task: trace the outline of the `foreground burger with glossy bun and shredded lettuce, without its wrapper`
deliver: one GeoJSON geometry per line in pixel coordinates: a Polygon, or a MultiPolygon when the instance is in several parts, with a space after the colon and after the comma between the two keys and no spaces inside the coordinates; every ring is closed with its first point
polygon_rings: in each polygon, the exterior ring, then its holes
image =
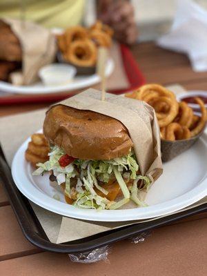
{"type": "Polygon", "coordinates": [[[57,105],[48,110],[43,134],[49,160],[33,175],[50,172],[68,204],[79,208],[117,209],[150,186],[141,176],[127,128],[117,119],[89,110],[57,105]]]}

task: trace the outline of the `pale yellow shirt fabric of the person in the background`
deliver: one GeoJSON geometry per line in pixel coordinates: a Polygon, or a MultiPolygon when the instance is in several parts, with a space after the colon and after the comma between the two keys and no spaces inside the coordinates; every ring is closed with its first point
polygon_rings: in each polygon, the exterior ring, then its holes
{"type": "Polygon", "coordinates": [[[67,28],[81,23],[84,0],[0,0],[0,17],[21,18],[48,28],[67,28]]]}

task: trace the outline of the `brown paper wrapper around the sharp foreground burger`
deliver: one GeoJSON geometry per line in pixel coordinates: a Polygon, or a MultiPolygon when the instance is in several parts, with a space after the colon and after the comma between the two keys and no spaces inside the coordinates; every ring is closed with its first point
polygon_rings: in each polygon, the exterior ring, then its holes
{"type": "Polygon", "coordinates": [[[134,144],[141,175],[148,175],[152,182],[161,175],[159,126],[155,110],[147,103],[109,93],[106,93],[106,101],[101,101],[101,92],[89,88],[57,104],[99,112],[121,121],[134,144]]]}

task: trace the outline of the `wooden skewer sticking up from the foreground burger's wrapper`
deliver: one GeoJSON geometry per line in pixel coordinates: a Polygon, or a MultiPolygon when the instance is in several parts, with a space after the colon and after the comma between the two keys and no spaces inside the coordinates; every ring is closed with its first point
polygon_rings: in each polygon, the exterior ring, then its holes
{"type": "Polygon", "coordinates": [[[108,58],[108,49],[99,47],[98,59],[97,59],[97,74],[101,78],[101,101],[105,101],[106,98],[106,61],[108,58]]]}

